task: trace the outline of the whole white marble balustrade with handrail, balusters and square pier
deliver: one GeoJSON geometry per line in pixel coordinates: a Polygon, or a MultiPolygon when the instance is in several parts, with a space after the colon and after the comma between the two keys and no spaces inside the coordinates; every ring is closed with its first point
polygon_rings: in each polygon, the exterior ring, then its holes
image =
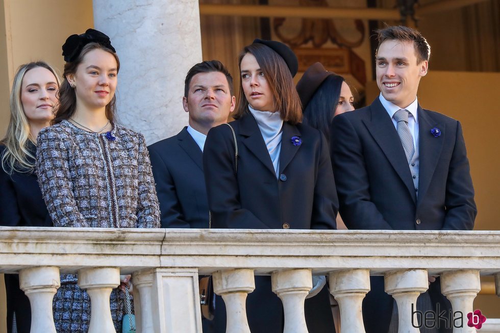
{"type": "MultiPolygon", "coordinates": [[[[481,275],[500,290],[500,232],[395,230],[101,229],[0,227],[0,271],[20,274],[32,306],[32,332],[55,332],[52,297],[60,273],[79,273],[92,313],[90,333],[112,332],[109,295],[119,274],[133,274],[138,332],[201,332],[198,274],[213,274],[226,302],[228,332],[249,332],[245,300],[254,275],[271,275],[286,333],[306,333],[304,299],[311,275],[327,275],[339,303],[341,333],[364,332],[361,302],[370,275],[384,275],[398,305],[399,332],[412,326],[411,303],[440,275],[442,292],[466,314],[481,275]]],[[[412,317],[413,316],[413,317],[412,317]]],[[[415,321],[416,322],[416,321],[415,321]]],[[[481,332],[498,331],[488,319],[481,332]]]]}

